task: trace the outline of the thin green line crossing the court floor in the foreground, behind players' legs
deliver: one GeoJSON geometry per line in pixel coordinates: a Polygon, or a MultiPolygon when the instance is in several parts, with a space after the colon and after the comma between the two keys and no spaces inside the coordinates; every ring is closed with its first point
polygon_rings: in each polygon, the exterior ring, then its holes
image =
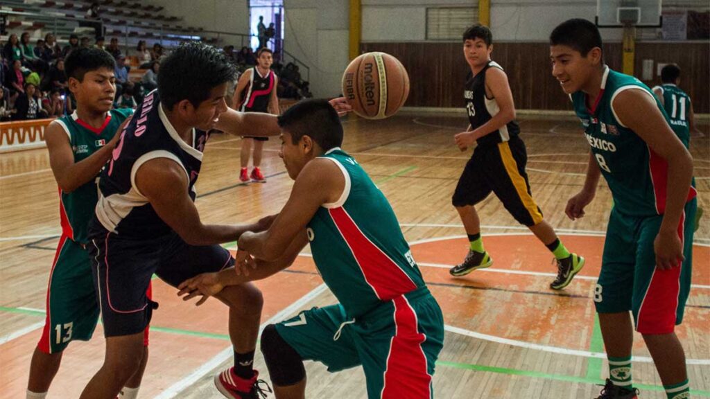
{"type": "MultiPolygon", "coordinates": [[[[45,312],[43,312],[41,310],[19,309],[17,307],[4,307],[4,306],[0,306],[0,312],[19,313],[19,314],[23,314],[23,315],[33,315],[33,316],[40,316],[40,317],[43,317],[45,315],[45,312]]],[[[599,322],[596,322],[595,328],[597,328],[598,326],[599,326],[599,322]]],[[[191,330],[186,330],[186,329],[174,329],[174,328],[168,328],[168,327],[155,327],[155,326],[151,326],[151,331],[165,332],[167,334],[189,335],[192,337],[212,338],[212,339],[220,339],[222,341],[229,341],[229,335],[227,335],[227,334],[213,334],[213,333],[209,333],[209,332],[199,332],[199,331],[191,331],[191,330]]],[[[592,337],[593,337],[593,341],[594,341],[594,334],[592,335],[592,337]]],[[[601,332],[599,333],[599,339],[601,339],[601,332]]],[[[515,368],[483,366],[480,364],[456,363],[453,361],[437,361],[437,366],[460,368],[463,370],[484,371],[484,372],[488,372],[488,373],[508,374],[509,376],[525,376],[525,377],[532,377],[532,378],[544,378],[547,380],[567,381],[567,382],[572,382],[572,383],[587,383],[587,384],[597,384],[597,385],[603,385],[603,383],[604,383],[604,381],[599,379],[599,377],[594,378],[594,377],[589,377],[589,376],[586,376],[586,377],[564,376],[564,375],[560,375],[560,374],[549,374],[549,373],[540,373],[537,371],[518,370],[515,368]]],[[[636,388],[644,389],[644,390],[654,390],[657,392],[663,391],[663,387],[661,387],[661,386],[652,386],[652,385],[637,384],[637,383],[634,383],[633,386],[635,386],[636,388]]],[[[707,390],[691,390],[691,393],[693,395],[699,395],[699,396],[702,396],[705,398],[710,398],[710,391],[707,391],[707,390]]]]}

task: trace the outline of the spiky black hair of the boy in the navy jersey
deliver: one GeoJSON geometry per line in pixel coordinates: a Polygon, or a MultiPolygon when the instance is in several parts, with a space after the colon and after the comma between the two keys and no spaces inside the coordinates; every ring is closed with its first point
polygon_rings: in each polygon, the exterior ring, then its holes
{"type": "Polygon", "coordinates": [[[160,62],[160,101],[169,110],[184,99],[197,108],[214,87],[235,75],[236,68],[222,51],[200,42],[183,43],[160,62]]]}

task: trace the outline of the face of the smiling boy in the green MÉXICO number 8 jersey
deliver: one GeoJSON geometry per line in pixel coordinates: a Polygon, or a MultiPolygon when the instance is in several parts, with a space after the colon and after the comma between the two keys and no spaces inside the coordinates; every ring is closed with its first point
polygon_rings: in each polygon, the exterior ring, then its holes
{"type": "Polygon", "coordinates": [[[557,79],[562,91],[572,94],[584,89],[594,72],[601,64],[601,50],[595,47],[586,57],[567,45],[550,46],[552,76],[557,79]]]}

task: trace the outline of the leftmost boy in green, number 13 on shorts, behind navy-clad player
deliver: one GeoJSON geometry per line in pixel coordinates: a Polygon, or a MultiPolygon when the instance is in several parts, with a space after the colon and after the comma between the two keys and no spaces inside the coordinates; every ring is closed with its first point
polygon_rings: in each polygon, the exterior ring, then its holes
{"type": "MultiPolygon", "coordinates": [[[[32,356],[28,399],[45,398],[64,349],[74,339],[91,339],[99,319],[86,249],[87,225],[98,201],[95,180],[116,146],[116,132],[133,114],[132,109],[111,109],[116,94],[114,67],[114,59],[103,50],[73,51],[65,69],[77,109],[53,121],[45,131],[50,166],[59,185],[62,236],[50,271],[47,318],[32,356]]],[[[126,383],[120,398],[136,398],[138,394],[148,361],[148,328],[143,345],[141,367],[126,383]]]]}

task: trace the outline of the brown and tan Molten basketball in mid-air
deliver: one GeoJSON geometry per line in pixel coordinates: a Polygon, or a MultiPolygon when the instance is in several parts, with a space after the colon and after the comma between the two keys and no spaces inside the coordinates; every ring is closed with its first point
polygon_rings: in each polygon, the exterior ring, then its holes
{"type": "Polygon", "coordinates": [[[359,55],[346,68],[342,85],[348,104],[365,119],[396,114],[409,95],[407,70],[387,53],[359,55]]]}

